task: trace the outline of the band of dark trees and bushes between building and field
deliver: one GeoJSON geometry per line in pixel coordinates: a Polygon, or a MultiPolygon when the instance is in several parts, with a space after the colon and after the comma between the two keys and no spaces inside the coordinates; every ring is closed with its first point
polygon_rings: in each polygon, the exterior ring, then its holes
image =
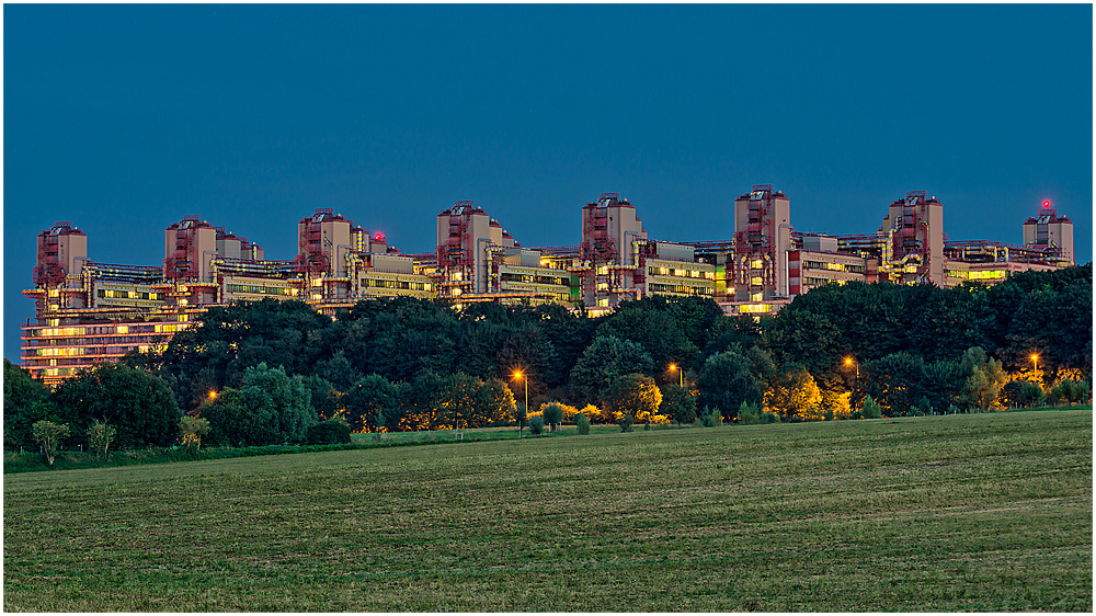
{"type": "Polygon", "coordinates": [[[68,443],[110,423],[125,448],[185,438],[183,415],[208,422],[206,442],[244,445],[327,437],[333,419],[354,432],[536,418],[550,430],[549,407],[595,422],[758,423],[1083,401],[1091,316],[1092,264],[993,287],[829,285],[761,318],[665,296],[598,318],[407,297],[334,318],[240,303],[54,392],[5,363],[4,443],[26,446],[46,418],[71,426],[68,443]]]}

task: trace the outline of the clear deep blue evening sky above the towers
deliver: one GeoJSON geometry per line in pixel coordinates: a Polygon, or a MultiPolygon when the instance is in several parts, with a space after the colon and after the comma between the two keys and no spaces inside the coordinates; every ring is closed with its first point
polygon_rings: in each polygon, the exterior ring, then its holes
{"type": "Polygon", "coordinates": [[[1091,5],[5,5],[4,336],[35,235],[158,264],[185,214],[289,259],[334,207],[404,252],[475,199],[526,246],[620,192],[653,238],[729,238],[773,183],[803,231],[907,190],[952,239],[1053,199],[1092,259],[1091,5]]]}

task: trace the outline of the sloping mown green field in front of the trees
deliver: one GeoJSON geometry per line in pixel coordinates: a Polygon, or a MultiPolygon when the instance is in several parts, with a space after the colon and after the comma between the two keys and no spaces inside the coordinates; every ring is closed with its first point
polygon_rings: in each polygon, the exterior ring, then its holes
{"type": "Polygon", "coordinates": [[[5,611],[1093,607],[1092,411],[4,477],[5,611]]]}

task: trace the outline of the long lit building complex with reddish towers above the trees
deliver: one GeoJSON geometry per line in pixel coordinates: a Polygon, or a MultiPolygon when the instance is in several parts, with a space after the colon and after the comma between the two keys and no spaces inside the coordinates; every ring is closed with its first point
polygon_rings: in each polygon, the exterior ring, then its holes
{"type": "Polygon", "coordinates": [[[475,301],[558,303],[604,313],[627,299],[699,296],[729,315],[775,312],[827,284],[890,281],[994,284],[1025,270],[1073,265],[1073,224],[1048,201],[1024,223],[1023,246],[951,241],[944,207],[924,191],[891,203],[874,233],[804,235],[790,199],[769,184],[734,199],[729,240],[666,242],[648,237],[636,206],[602,193],[581,208],[576,246],[525,248],[472,202],[437,215],[432,252],[402,254],[332,209],[297,224],[297,254],[272,261],[224,227],[186,216],[164,230],[162,265],[89,258],[88,236],[57,223],[37,238],[35,317],[23,327],[22,364],[56,384],[95,362],[162,347],[210,306],[299,299],[327,315],[362,299],[411,296],[475,301]]]}

